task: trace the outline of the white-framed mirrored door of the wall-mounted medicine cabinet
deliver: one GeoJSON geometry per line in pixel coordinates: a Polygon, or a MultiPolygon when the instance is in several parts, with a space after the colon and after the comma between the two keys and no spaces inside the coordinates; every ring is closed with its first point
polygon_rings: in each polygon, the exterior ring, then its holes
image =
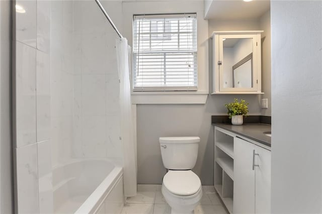
{"type": "Polygon", "coordinates": [[[219,35],[220,91],[258,90],[257,34],[219,35]]]}

